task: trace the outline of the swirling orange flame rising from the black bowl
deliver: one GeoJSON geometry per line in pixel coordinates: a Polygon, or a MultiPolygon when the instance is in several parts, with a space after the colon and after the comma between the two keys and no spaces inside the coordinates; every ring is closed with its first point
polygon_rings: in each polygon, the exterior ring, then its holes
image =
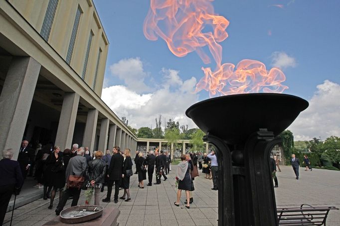
{"type": "Polygon", "coordinates": [[[210,63],[203,51],[208,47],[216,63],[216,70],[203,68],[204,76],[196,85],[196,92],[205,89],[210,96],[248,92],[283,92],[280,83],[285,75],[277,68],[269,72],[263,63],[242,60],[235,70],[233,64],[222,65],[222,46],[228,37],[229,21],[214,13],[213,0],[151,0],[144,20],[144,35],[149,40],[161,37],[177,57],[196,52],[204,64],[210,63]],[[207,29],[210,28],[209,30],[207,29]]]}

